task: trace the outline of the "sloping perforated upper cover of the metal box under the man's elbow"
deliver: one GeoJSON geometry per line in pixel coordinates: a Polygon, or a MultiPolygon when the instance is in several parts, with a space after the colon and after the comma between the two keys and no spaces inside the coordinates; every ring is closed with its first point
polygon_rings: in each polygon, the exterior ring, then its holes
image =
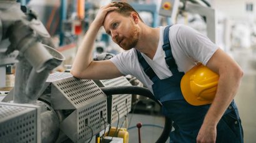
{"type": "Polygon", "coordinates": [[[94,81],[79,80],[74,77],[53,81],[51,93],[54,109],[78,109],[106,98],[94,81]]]}

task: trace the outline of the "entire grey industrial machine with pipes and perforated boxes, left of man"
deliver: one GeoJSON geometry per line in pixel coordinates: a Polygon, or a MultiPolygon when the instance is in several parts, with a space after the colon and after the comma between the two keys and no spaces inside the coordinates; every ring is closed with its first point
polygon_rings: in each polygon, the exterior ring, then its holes
{"type": "MultiPolygon", "coordinates": [[[[92,80],[70,73],[50,75],[64,57],[42,44],[47,38],[36,14],[21,11],[16,1],[0,1],[1,78],[5,65],[16,63],[15,86],[0,103],[1,142],[85,142],[106,129],[106,94],[92,80]]],[[[111,99],[118,101],[119,118],[130,111],[130,96],[121,98],[111,99]]]]}

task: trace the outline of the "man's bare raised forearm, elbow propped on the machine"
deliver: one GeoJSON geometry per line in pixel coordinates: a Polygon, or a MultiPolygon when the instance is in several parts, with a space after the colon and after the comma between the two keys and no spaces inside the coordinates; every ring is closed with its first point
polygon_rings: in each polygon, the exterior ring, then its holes
{"type": "Polygon", "coordinates": [[[96,25],[94,22],[92,22],[91,26],[87,30],[84,39],[82,39],[82,42],[78,47],[76,57],[71,69],[72,75],[81,75],[82,71],[86,70],[86,68],[92,62],[94,41],[100,27],[101,25],[96,25]]]}

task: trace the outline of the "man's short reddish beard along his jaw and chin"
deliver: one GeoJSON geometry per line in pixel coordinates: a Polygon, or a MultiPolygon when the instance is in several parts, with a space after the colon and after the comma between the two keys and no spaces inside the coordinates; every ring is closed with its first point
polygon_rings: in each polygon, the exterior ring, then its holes
{"type": "Polygon", "coordinates": [[[119,44],[120,47],[122,47],[124,50],[130,50],[131,48],[134,48],[138,41],[139,41],[139,28],[135,26],[134,23],[132,23],[132,21],[130,22],[131,23],[131,28],[130,28],[130,34],[129,34],[129,39],[125,39],[126,42],[123,42],[122,43],[122,46],[121,44],[119,44]]]}

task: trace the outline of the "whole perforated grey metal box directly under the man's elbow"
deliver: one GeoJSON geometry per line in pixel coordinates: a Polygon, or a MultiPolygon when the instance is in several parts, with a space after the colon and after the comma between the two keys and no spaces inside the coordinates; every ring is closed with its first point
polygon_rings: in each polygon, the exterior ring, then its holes
{"type": "Polygon", "coordinates": [[[52,107],[72,111],[61,122],[64,134],[73,142],[85,142],[104,129],[104,121],[107,124],[107,96],[94,81],[79,80],[67,73],[56,73],[51,75],[51,80],[48,79],[52,81],[52,107]]]}

